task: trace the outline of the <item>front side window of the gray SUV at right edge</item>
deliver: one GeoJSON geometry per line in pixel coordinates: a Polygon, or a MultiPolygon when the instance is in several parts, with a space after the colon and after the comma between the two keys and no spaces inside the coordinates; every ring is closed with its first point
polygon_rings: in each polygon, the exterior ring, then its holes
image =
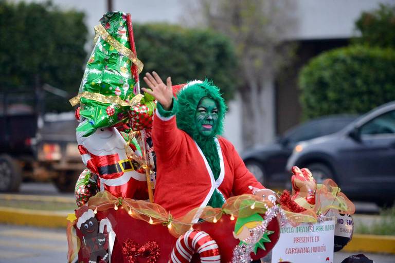
{"type": "Polygon", "coordinates": [[[395,110],[382,114],[361,126],[361,135],[395,134],[395,110]]]}

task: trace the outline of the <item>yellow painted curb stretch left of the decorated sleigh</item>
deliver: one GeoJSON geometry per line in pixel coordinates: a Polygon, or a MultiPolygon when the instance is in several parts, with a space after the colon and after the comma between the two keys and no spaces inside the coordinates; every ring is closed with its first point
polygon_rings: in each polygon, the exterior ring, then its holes
{"type": "Polygon", "coordinates": [[[67,212],[0,207],[0,223],[44,228],[66,228],[67,212]]]}

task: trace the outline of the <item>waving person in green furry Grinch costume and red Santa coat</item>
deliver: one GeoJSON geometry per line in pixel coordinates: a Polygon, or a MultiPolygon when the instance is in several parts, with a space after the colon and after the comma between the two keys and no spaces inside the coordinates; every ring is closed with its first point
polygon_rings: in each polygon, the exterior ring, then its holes
{"type": "Polygon", "coordinates": [[[164,84],[147,73],[142,88],[157,100],[152,139],[157,178],[154,201],[180,217],[192,209],[220,208],[231,196],[275,195],[250,173],[235,147],[219,136],[226,112],[220,90],[209,81],[187,83],[173,98],[170,77],[164,84]]]}

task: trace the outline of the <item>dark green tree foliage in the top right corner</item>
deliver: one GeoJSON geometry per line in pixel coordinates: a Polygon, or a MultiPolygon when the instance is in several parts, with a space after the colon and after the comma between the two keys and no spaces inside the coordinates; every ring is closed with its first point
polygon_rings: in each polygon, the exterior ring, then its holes
{"type": "Polygon", "coordinates": [[[378,9],[363,12],[355,28],[361,33],[355,43],[395,48],[395,4],[380,4],[378,9]]]}

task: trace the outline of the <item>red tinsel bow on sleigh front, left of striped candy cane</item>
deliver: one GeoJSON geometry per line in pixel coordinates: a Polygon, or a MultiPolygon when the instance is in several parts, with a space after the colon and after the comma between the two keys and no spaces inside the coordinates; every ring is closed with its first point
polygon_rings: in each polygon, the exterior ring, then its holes
{"type": "Polygon", "coordinates": [[[138,263],[138,257],[148,258],[147,263],[155,263],[160,256],[160,248],[155,241],[148,241],[139,245],[128,238],[123,242],[122,254],[129,263],[138,263]]]}

